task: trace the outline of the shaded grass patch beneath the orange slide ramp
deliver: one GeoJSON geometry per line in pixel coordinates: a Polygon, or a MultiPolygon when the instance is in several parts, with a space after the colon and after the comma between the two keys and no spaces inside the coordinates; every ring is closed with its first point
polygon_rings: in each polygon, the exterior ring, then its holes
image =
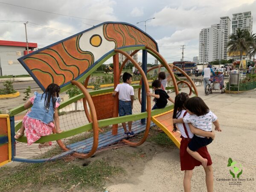
{"type": "Polygon", "coordinates": [[[173,148],[176,146],[164,132],[160,132],[160,130],[157,129],[158,127],[151,128],[147,141],[156,143],[160,147],[165,148],[173,148]]]}

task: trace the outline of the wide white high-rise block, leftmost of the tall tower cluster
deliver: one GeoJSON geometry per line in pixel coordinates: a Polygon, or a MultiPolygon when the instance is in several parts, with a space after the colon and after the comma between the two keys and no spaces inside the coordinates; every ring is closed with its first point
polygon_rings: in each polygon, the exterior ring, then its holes
{"type": "Polygon", "coordinates": [[[207,64],[224,57],[224,31],[219,24],[204,28],[199,34],[199,63],[207,64]]]}

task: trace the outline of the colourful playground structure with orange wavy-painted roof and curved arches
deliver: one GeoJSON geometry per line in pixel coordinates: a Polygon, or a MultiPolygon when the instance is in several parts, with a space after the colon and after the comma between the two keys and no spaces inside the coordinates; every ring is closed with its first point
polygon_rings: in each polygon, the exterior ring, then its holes
{"type": "Polygon", "coordinates": [[[26,111],[23,105],[14,108],[9,115],[0,115],[0,165],[10,161],[42,163],[63,157],[88,158],[96,152],[117,148],[122,145],[138,146],[145,142],[149,129],[154,123],[179,147],[179,132],[172,132],[173,105],[151,111],[150,91],[146,75],[157,67],[147,70],[147,54],[153,55],[165,67],[171,76],[173,90],[179,93],[179,84],[189,87],[189,95],[198,95],[194,82],[180,68],[169,66],[158,52],[156,41],[148,34],[128,23],[105,22],[55,44],[25,55],[18,60],[25,67],[39,87],[44,91],[48,84],[55,83],[61,87],[61,93],[77,86],[81,94],[61,102],[58,110],[60,127],[64,132],[41,137],[32,145],[27,145],[26,136],[15,140],[15,132],[22,121],[15,122],[15,117],[26,111]],[[127,52],[133,50],[131,55],[127,52]],[[132,56],[142,50],[142,67],[132,56]],[[126,59],[119,68],[118,54],[126,59]],[[106,60],[113,57],[114,86],[102,90],[87,90],[91,73],[106,60]],[[134,102],[133,114],[118,116],[118,97],[113,98],[114,88],[119,84],[122,69],[131,61],[141,74],[140,84],[133,85],[137,100],[134,102]],[[172,71],[177,70],[188,81],[182,81],[172,71]],[[76,111],[74,108],[76,106],[76,111]],[[152,121],[151,121],[152,120],[152,121]],[[132,131],[136,134],[129,140],[123,135],[122,122],[133,121],[132,131]],[[4,123],[3,123],[4,122],[4,123]],[[38,143],[52,141],[49,149],[38,149],[38,143]],[[3,151],[3,152],[2,152],[3,151]]]}

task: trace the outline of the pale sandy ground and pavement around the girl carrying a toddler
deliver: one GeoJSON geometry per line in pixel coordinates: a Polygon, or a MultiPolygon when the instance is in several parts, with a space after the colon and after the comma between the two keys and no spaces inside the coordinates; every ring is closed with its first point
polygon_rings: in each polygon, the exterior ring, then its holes
{"type": "MultiPolygon", "coordinates": [[[[199,96],[219,119],[222,132],[216,133],[215,140],[208,150],[212,157],[215,192],[254,192],[256,191],[256,90],[240,94],[220,94],[216,91],[204,96],[203,86],[198,87],[199,96]],[[242,174],[240,180],[232,180],[229,158],[237,162],[242,174]]],[[[1,101],[2,102],[2,101],[1,101]]],[[[161,148],[154,143],[144,143],[132,148],[129,146],[103,151],[84,163],[102,159],[111,165],[121,166],[125,173],[106,178],[105,191],[108,192],[183,192],[183,172],[180,171],[179,150],[161,148]]],[[[192,191],[206,192],[204,169],[199,166],[193,171],[192,191]]],[[[40,191],[62,191],[56,186],[40,191]]],[[[69,191],[94,191],[79,186],[69,191]]],[[[104,191],[104,190],[103,190],[104,191]]]]}

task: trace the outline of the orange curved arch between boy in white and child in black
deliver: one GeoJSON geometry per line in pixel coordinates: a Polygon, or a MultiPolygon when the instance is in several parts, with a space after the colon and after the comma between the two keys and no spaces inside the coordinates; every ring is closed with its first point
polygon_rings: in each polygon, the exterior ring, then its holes
{"type": "MultiPolygon", "coordinates": [[[[146,90],[146,92],[148,92],[149,91],[149,86],[148,86],[147,77],[146,77],[144,71],[142,70],[142,68],[139,66],[139,64],[127,52],[124,52],[120,49],[114,49],[114,51],[116,53],[121,53],[122,55],[125,55],[125,57],[128,58],[132,62],[132,64],[134,64],[135,67],[137,67],[137,69],[140,71],[140,74],[142,75],[142,78],[143,78],[143,81],[144,81],[144,84],[145,84],[145,90],[146,90]]],[[[145,128],[145,133],[143,135],[143,138],[138,143],[134,143],[134,142],[131,142],[131,141],[128,141],[128,140],[123,140],[125,143],[128,143],[129,145],[131,145],[133,147],[136,147],[136,146],[139,146],[139,145],[143,144],[145,142],[145,140],[147,139],[147,137],[148,137],[148,132],[149,132],[149,128],[150,128],[150,121],[151,121],[151,102],[150,102],[150,96],[147,96],[146,98],[147,98],[148,117],[147,117],[146,128],[145,128]]]]}

